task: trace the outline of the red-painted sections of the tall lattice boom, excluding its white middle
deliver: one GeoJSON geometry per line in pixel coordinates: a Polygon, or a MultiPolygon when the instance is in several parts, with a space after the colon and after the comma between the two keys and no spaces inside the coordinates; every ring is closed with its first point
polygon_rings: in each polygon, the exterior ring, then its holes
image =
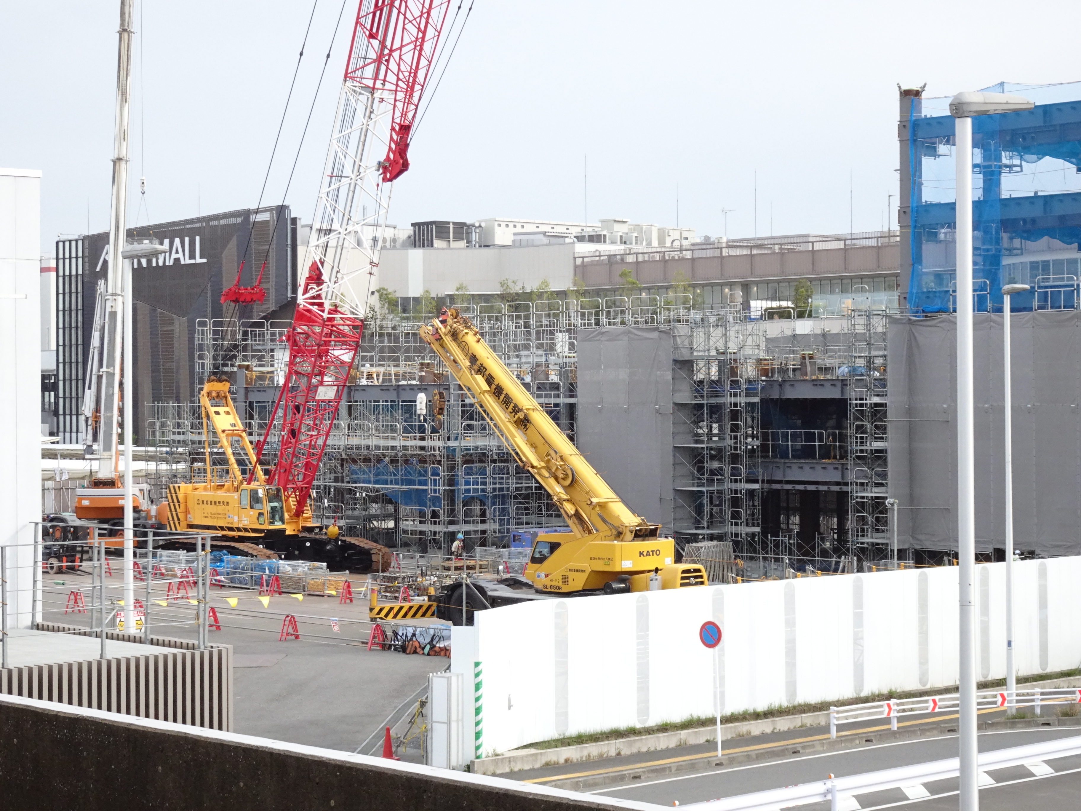
{"type": "MultiPolygon", "coordinates": [[[[383,98],[392,94],[388,148],[379,163],[384,183],[409,169],[413,119],[448,4],[449,0],[361,0],[358,9],[345,82],[370,88],[383,98]]],[[[303,516],[308,506],[363,329],[361,318],[338,306],[323,268],[313,262],[288,334],[285,381],[256,447],[256,456],[262,457],[280,410],[281,443],[269,481],[283,489],[293,516],[303,516]]]]}

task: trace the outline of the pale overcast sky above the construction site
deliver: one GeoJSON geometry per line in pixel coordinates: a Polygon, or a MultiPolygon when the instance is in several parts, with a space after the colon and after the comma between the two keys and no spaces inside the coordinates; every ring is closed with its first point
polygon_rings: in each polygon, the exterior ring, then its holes
{"type": "MultiPolygon", "coordinates": [[[[312,3],[135,2],[129,225],[254,207],[312,3]]],[[[342,8],[316,4],[265,204],[283,197],[342,8]]],[[[119,2],[0,9],[0,165],[42,170],[51,254],[58,234],[108,227],[119,2]]],[[[897,83],[945,95],[1081,79],[1073,28],[1026,23],[1075,11],[1065,0],[1024,14],[995,0],[476,0],[389,220],[579,222],[588,156],[591,222],[678,216],[718,236],[731,209],[729,236],[746,237],[771,232],[772,209],[773,234],[848,231],[851,172],[852,225],[877,230],[896,192],[897,83]]],[[[355,14],[346,0],[285,196],[304,222],[355,14]]]]}

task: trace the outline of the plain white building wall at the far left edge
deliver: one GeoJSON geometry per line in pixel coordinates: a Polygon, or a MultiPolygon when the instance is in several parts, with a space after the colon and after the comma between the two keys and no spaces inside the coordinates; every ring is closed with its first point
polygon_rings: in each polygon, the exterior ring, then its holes
{"type": "Polygon", "coordinates": [[[0,545],[8,553],[9,623],[31,622],[36,532],[41,520],[41,172],[0,169],[0,545]]]}

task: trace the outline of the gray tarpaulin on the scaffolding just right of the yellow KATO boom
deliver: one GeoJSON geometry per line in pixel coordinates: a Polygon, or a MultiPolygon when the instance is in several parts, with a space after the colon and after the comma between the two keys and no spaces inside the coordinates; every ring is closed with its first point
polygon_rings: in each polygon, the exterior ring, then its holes
{"type": "Polygon", "coordinates": [[[671,530],[672,335],[578,331],[578,448],[638,515],[671,530]]]}

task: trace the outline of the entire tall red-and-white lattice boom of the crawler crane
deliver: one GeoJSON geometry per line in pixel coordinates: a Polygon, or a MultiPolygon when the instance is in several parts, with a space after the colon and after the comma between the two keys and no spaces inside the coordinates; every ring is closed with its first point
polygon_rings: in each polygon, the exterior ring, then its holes
{"type": "MultiPolygon", "coordinates": [[[[409,138],[450,0],[361,0],[334,134],[289,332],[278,464],[270,482],[304,513],[363,332],[387,224],[390,184],[409,138]]],[[[258,452],[269,437],[259,442],[258,452]]]]}

